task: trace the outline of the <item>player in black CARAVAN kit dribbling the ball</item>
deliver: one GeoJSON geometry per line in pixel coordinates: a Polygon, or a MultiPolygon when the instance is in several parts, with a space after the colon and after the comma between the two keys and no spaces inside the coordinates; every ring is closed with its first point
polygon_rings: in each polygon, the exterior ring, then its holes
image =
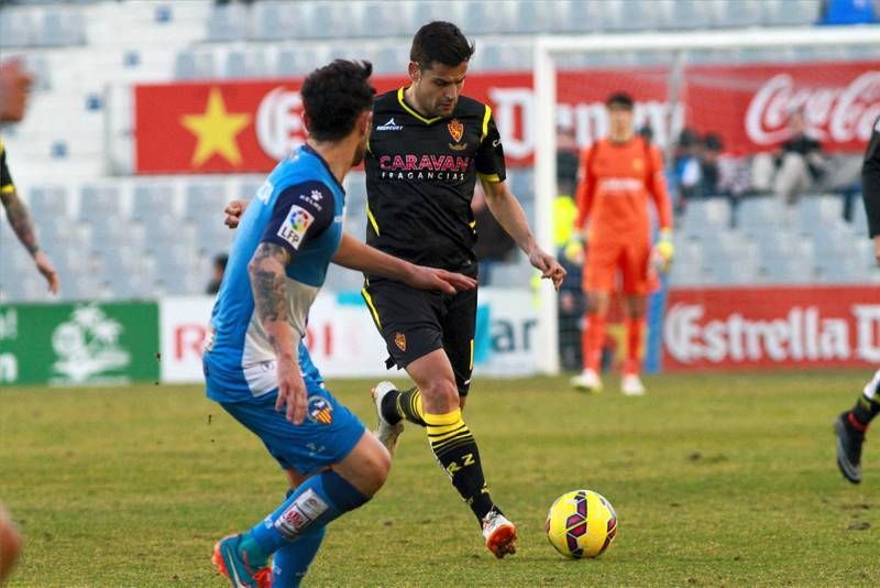
{"type": "MultiPolygon", "coordinates": [[[[367,145],[366,242],[413,263],[476,275],[471,198],[477,181],[490,210],[531,264],[558,287],[565,271],[542,251],[505,183],[504,148],[492,109],[462,96],[474,45],[449,22],[413,40],[410,85],[376,98],[367,145]]],[[[376,434],[391,451],[404,420],[424,427],[431,449],[470,505],[496,557],[515,553],[516,527],[490,497],[474,437],[462,420],[473,370],[476,291],[435,295],[365,276],[364,300],[385,339],[387,364],[416,386],[373,390],[376,434]]]]}

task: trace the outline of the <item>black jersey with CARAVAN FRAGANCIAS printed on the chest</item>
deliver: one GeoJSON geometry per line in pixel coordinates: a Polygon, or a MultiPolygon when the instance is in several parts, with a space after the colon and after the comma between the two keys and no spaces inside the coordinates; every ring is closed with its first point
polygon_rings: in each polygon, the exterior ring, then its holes
{"type": "Polygon", "coordinates": [[[366,242],[414,263],[471,269],[474,184],[477,176],[506,177],[492,109],[462,96],[450,116],[428,119],[406,104],[404,90],[383,94],[373,106],[366,242]]]}

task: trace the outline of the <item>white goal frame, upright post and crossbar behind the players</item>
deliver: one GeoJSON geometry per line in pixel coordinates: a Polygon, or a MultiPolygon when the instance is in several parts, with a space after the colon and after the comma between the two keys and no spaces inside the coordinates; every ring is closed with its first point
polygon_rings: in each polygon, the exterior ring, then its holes
{"type": "MultiPolygon", "coordinates": [[[[554,250],[553,199],[557,197],[557,74],[558,59],[572,54],[664,52],[681,61],[685,52],[748,48],[839,48],[865,45],[880,47],[880,26],[810,26],[702,30],[693,32],[539,36],[535,42],[535,188],[539,244],[554,250]]],[[[557,293],[543,280],[539,291],[538,370],[560,371],[557,293]]]]}

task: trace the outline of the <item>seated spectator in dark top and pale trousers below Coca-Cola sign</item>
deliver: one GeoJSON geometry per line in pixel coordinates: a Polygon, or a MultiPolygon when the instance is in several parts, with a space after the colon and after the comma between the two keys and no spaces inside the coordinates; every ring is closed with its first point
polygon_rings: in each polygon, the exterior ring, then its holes
{"type": "Polygon", "coordinates": [[[791,138],[780,145],[776,157],[768,153],[755,156],[751,178],[756,190],[772,190],[793,205],[822,178],[826,159],[820,142],[807,134],[803,111],[791,113],[789,128],[791,138]]]}

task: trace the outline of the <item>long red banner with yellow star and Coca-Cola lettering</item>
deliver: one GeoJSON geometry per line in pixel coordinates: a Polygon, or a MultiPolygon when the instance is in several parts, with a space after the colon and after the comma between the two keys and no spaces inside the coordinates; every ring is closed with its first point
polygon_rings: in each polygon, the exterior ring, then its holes
{"type": "MultiPolygon", "coordinates": [[[[770,151],[788,138],[787,119],[803,109],[828,151],[861,151],[880,116],[880,63],[691,66],[682,101],[668,102],[666,68],[582,69],[559,74],[560,126],[580,144],[607,132],[603,102],[627,90],[636,124],[666,145],[667,121],[718,133],[726,149],[770,151]]],[[[305,140],[299,79],[143,85],[134,88],[138,173],[265,172],[305,140]]],[[[405,83],[374,78],[380,91],[405,83]]],[[[472,74],[466,94],[492,106],[510,166],[531,165],[535,96],[530,73],[472,74]]],[[[674,133],[673,133],[674,134],[674,133]]]]}

